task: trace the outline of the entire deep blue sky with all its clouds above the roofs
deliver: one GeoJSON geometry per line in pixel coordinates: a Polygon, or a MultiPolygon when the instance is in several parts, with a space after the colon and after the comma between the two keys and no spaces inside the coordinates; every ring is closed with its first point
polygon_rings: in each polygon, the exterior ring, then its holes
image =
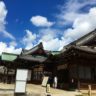
{"type": "Polygon", "coordinates": [[[1,0],[0,53],[18,54],[40,42],[61,50],[96,28],[95,6],[96,0],[1,0]]]}

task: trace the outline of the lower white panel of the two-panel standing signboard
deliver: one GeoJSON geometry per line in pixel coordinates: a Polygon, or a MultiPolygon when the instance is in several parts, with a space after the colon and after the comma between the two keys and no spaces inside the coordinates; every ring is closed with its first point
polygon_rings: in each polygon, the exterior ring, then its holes
{"type": "Polygon", "coordinates": [[[26,82],[16,81],[15,93],[25,93],[26,82]]]}

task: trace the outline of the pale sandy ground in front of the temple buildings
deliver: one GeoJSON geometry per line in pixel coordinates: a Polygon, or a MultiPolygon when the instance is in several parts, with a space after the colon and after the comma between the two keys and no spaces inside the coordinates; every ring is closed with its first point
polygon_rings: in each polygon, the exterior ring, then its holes
{"type": "MultiPolygon", "coordinates": [[[[15,85],[0,83],[0,96],[13,96],[15,85]]],[[[76,91],[65,91],[59,89],[50,89],[51,96],[80,96],[76,91]]],[[[41,85],[27,84],[26,92],[28,96],[47,96],[46,88],[41,85]]]]}

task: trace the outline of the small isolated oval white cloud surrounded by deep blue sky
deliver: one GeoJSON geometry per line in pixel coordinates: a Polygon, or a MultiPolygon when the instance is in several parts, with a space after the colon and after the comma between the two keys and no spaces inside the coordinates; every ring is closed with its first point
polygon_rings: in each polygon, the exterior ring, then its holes
{"type": "Polygon", "coordinates": [[[30,21],[37,27],[50,27],[54,24],[54,22],[48,21],[48,19],[43,16],[33,16],[30,21]]]}

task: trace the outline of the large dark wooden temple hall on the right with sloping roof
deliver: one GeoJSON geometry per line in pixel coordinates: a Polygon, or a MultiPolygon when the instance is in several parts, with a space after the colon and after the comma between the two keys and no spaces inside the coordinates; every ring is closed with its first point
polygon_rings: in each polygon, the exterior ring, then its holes
{"type": "Polygon", "coordinates": [[[68,88],[74,79],[75,87],[96,88],[96,30],[65,46],[55,56],[59,87],[68,88]]]}

